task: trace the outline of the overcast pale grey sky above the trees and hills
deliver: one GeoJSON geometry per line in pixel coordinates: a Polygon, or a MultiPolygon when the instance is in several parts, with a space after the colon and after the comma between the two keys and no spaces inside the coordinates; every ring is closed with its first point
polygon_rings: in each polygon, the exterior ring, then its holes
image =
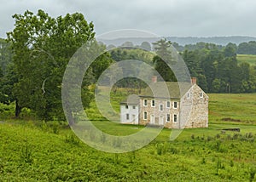
{"type": "Polygon", "coordinates": [[[43,9],[50,16],[83,13],[96,34],[140,29],[160,36],[256,37],[255,0],[0,0],[0,37],[14,28],[13,14],[43,9]]]}

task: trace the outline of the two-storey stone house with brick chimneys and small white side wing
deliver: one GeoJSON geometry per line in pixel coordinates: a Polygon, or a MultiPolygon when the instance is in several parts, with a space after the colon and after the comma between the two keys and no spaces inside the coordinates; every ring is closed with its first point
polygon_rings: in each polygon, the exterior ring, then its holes
{"type": "Polygon", "coordinates": [[[207,128],[208,96],[189,82],[153,82],[141,95],[120,103],[121,123],[157,125],[164,128],[207,128]],[[166,87],[168,94],[163,93],[166,87]],[[153,94],[154,93],[154,94],[153,94]]]}

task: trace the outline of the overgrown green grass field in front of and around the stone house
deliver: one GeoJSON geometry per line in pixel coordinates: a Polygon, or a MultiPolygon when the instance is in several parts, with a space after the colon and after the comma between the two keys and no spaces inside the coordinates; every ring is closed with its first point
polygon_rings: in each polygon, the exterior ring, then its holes
{"type": "MultiPolygon", "coordinates": [[[[124,95],[111,100],[114,109],[124,95]]],[[[256,181],[256,94],[209,96],[209,128],[184,129],[174,141],[172,130],[163,129],[149,145],[124,154],[96,151],[65,122],[0,123],[0,181],[256,181]],[[223,128],[241,132],[222,134],[223,128]]],[[[87,111],[109,134],[143,128],[87,111]]]]}

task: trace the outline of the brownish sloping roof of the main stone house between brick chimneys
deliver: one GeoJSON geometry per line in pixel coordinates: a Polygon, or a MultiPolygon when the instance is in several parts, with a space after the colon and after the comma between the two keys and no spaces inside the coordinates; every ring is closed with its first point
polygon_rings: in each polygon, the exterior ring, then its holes
{"type": "Polygon", "coordinates": [[[143,89],[140,97],[181,99],[192,86],[190,82],[153,82],[143,89]]]}

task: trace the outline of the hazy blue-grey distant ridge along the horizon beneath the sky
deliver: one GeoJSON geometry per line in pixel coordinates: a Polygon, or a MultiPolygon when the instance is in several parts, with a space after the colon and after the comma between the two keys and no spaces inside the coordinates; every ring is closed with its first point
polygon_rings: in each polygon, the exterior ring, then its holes
{"type": "MultiPolygon", "coordinates": [[[[159,40],[161,37],[133,37],[133,38],[118,38],[112,40],[99,39],[102,43],[106,43],[107,45],[113,44],[114,46],[119,46],[125,42],[131,42],[134,45],[140,45],[144,41],[148,43],[154,43],[159,40]]],[[[242,37],[242,36],[230,36],[230,37],[166,37],[167,40],[171,42],[176,42],[180,45],[186,44],[195,44],[195,43],[215,43],[218,45],[226,45],[228,43],[247,43],[249,41],[256,41],[256,37],[242,37]]]]}

